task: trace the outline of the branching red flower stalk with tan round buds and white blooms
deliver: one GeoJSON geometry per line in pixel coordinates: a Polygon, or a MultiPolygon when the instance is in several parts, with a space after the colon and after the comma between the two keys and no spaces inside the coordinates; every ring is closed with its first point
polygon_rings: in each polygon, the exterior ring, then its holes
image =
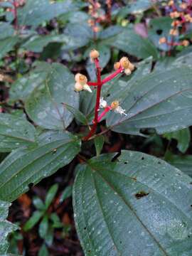
{"type": "Polygon", "coordinates": [[[97,82],[87,82],[87,78],[85,77],[85,75],[82,75],[80,73],[75,75],[75,82],[76,82],[75,90],[77,92],[80,92],[81,90],[87,90],[89,92],[92,92],[92,90],[90,90],[90,86],[94,86],[97,89],[96,103],[95,103],[95,117],[92,121],[93,125],[89,134],[87,134],[87,136],[84,137],[84,141],[87,141],[88,139],[90,139],[90,137],[92,137],[95,134],[98,122],[100,122],[102,120],[102,117],[104,117],[105,114],[107,114],[107,112],[109,112],[110,110],[114,110],[114,112],[117,112],[119,114],[125,114],[122,107],[119,106],[118,101],[112,102],[112,104],[109,106],[107,105],[107,102],[105,100],[102,100],[101,98],[102,85],[104,85],[107,82],[110,82],[110,80],[114,79],[115,77],[117,77],[117,75],[123,72],[127,75],[130,75],[132,73],[132,70],[134,70],[134,65],[130,63],[127,57],[123,57],[118,63],[114,64],[114,68],[116,69],[114,73],[112,73],[111,75],[108,75],[107,78],[104,78],[102,80],[101,79],[102,68],[100,67],[99,53],[97,52],[97,50],[91,51],[90,58],[92,62],[95,63],[95,68],[97,70],[97,82]],[[99,115],[100,105],[102,105],[102,108],[104,108],[104,111],[99,115]]]}

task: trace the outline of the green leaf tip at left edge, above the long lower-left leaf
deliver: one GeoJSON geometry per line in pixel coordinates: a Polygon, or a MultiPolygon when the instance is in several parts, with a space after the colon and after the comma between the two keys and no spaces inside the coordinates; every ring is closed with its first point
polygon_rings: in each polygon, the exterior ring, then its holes
{"type": "Polygon", "coordinates": [[[35,144],[36,129],[23,117],[0,114],[0,152],[35,144]]]}

